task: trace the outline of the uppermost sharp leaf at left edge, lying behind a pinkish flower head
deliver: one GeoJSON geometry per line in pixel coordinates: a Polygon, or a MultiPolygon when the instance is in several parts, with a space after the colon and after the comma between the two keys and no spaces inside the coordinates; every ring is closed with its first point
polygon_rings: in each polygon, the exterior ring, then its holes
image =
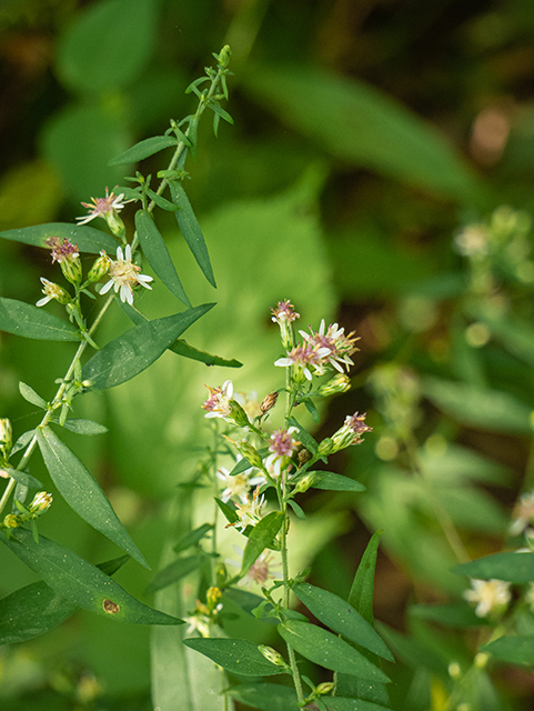
{"type": "Polygon", "coordinates": [[[98,254],[101,249],[113,253],[117,250],[117,241],[107,232],[85,224],[70,224],[68,222],[49,222],[48,224],[23,227],[19,230],[7,230],[0,232],[0,237],[3,237],[4,240],[44,247],[46,249],[49,249],[44,244],[49,237],[60,237],[77,244],[80,252],[98,254]]]}

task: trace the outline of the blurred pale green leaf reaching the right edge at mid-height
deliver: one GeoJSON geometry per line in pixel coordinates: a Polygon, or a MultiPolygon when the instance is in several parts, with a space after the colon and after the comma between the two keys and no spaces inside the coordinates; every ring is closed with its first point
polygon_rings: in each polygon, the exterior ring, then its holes
{"type": "Polygon", "coordinates": [[[439,378],[424,378],[422,390],[437,408],[467,427],[532,433],[531,408],[508,392],[439,378]]]}

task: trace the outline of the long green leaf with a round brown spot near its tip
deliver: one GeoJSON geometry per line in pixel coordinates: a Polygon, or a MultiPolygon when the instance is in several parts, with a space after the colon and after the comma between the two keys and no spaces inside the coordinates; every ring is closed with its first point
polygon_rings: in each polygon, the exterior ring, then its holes
{"type": "Polygon", "coordinates": [[[30,531],[19,528],[9,539],[0,531],[0,541],[58,594],[79,608],[118,622],[183,624],[183,620],[143,604],[99,568],[44,535],[39,535],[36,543],[30,531]]]}

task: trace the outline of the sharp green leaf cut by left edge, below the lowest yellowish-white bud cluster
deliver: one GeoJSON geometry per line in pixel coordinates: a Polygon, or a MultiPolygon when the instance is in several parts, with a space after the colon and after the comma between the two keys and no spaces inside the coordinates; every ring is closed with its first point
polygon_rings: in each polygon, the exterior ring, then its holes
{"type": "Polygon", "coordinates": [[[69,321],[38,307],[0,298],[0,331],[40,341],[79,341],[78,330],[69,321]]]}

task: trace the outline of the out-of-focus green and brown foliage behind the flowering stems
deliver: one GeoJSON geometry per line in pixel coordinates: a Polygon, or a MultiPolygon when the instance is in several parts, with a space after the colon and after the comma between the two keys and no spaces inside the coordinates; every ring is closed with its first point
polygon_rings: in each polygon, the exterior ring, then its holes
{"type": "MultiPolygon", "coordinates": [[[[399,710],[444,708],[447,661],[474,645],[410,605],[457,600],[465,581],[450,568],[464,549],[500,550],[534,483],[533,36],[530,0],[0,3],[0,230],[71,222],[81,200],[122,183],[108,160],[189,113],[185,87],[231,44],[235,124],[218,139],[201,126],[188,164],[216,292],[162,219],[191,300],[218,302],[188,340],[244,365],[208,371],[168,353],[79,401],[79,417],[110,431],[75,448],[157,569],[178,525],[168,501],[205,442],[203,383],[230,377],[260,399],[279,387],[269,308],[280,299],[303,324],[324,317],[355,330],[353,390],[318,437],[369,411],[373,434],[335,462],[369,491],[310,495],[295,564],[314,561],[315,582],[346,594],[369,532],[384,529],[375,614],[402,660],[389,670],[399,710]]],[[[0,241],[0,259],[2,296],[36,302],[39,277],[54,278],[42,251],[0,241]]],[[[175,304],[154,289],[142,308],[175,304]]],[[[102,342],[127,326],[117,310],[102,342]]],[[[16,433],[34,421],[18,381],[50,398],[69,360],[61,344],[1,334],[1,415],[16,433]]],[[[47,481],[37,458],[33,468],[47,481]]],[[[43,532],[93,562],[117,554],[59,495],[43,532]]],[[[0,594],[33,579],[3,550],[0,570],[0,594]]],[[[147,571],[130,563],[118,580],[150,601],[147,571]]],[[[78,613],[0,651],[0,704],[149,709],[149,634],[78,613]]],[[[152,673],[163,699],[162,669],[152,673]]],[[[481,709],[530,708],[526,672],[500,668],[496,683],[481,709]]]]}

